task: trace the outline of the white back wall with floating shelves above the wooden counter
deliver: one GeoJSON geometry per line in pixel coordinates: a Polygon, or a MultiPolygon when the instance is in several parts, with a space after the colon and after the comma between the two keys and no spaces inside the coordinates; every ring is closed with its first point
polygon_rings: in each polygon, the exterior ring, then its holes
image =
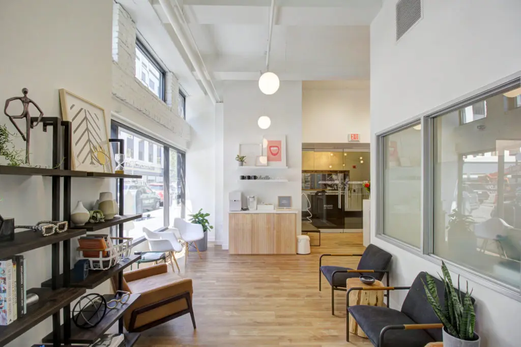
{"type": "MultiPolygon", "coordinates": [[[[222,247],[228,249],[228,193],[241,190],[245,196],[257,195],[259,202],[277,203],[278,195],[291,195],[293,206],[301,206],[302,171],[302,82],[282,81],[273,95],[264,95],[257,81],[227,81],[224,85],[224,205],[222,247]],[[271,118],[271,126],[262,130],[257,119],[262,115],[271,118]],[[235,156],[240,143],[261,143],[263,135],[286,135],[287,170],[263,170],[262,175],[287,178],[288,183],[238,182],[240,175],[259,174],[237,169],[235,156]],[[250,172],[250,173],[249,173],[250,172]]],[[[301,225],[297,223],[297,233],[301,225]]]]}

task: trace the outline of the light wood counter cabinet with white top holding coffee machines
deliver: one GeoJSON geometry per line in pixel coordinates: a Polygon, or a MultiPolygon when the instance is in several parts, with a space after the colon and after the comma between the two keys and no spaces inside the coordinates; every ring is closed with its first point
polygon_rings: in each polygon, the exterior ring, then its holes
{"type": "Polygon", "coordinates": [[[230,254],[295,254],[295,209],[230,211],[230,254]]]}

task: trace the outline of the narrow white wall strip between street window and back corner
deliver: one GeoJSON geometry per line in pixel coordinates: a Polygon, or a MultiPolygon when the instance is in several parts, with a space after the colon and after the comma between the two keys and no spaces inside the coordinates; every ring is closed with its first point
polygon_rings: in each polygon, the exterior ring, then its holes
{"type": "MultiPolygon", "coordinates": [[[[215,106],[205,95],[188,96],[186,117],[193,128],[190,150],[186,155],[186,214],[202,208],[210,214],[208,221],[215,228],[215,106]]],[[[208,239],[215,240],[215,231],[209,231],[208,239]]]]}

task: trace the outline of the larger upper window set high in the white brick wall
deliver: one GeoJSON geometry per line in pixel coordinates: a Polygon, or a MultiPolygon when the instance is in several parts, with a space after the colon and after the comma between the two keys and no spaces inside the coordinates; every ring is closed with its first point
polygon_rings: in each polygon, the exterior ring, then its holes
{"type": "Polygon", "coordinates": [[[139,41],[135,44],[135,77],[165,100],[165,71],[139,41]]]}

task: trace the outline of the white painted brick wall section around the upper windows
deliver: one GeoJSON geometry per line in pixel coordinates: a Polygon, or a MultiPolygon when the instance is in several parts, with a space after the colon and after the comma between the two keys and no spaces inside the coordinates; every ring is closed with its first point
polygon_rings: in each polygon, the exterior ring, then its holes
{"type": "Polygon", "coordinates": [[[166,73],[166,103],[135,78],[135,23],[117,3],[114,3],[113,17],[112,94],[122,103],[138,110],[143,117],[190,141],[190,125],[179,117],[179,81],[176,76],[171,71],[166,73]]]}

